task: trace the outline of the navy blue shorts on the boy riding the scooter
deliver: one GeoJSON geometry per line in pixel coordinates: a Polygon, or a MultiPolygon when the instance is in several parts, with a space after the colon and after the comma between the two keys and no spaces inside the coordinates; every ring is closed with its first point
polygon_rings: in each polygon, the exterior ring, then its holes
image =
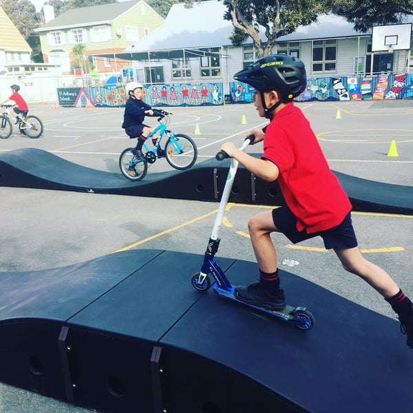
{"type": "Polygon", "coordinates": [[[348,249],[357,246],[350,212],[343,219],[343,222],[334,228],[310,234],[306,233],[306,229],[297,230],[297,218],[288,207],[273,209],[273,221],[277,229],[286,235],[293,244],[320,236],[323,238],[326,249],[348,249]]]}

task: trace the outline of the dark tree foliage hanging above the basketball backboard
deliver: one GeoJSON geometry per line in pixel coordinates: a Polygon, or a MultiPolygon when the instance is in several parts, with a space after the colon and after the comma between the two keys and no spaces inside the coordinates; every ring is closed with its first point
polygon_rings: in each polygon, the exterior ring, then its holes
{"type": "Polygon", "coordinates": [[[358,32],[367,32],[372,25],[401,23],[403,14],[413,14],[413,0],[332,0],[330,8],[358,32]]]}

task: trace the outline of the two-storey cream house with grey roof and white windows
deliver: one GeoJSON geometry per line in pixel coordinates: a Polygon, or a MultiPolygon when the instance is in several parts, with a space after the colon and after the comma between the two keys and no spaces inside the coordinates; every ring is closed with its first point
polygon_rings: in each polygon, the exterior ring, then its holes
{"type": "Polygon", "coordinates": [[[145,1],[133,0],[67,10],[47,19],[35,32],[40,36],[44,61],[60,67],[60,74],[121,76],[129,73],[123,72],[129,61],[117,54],[144,39],[163,21],[145,1]],[[83,45],[84,63],[74,52],[76,45],[83,45]]]}

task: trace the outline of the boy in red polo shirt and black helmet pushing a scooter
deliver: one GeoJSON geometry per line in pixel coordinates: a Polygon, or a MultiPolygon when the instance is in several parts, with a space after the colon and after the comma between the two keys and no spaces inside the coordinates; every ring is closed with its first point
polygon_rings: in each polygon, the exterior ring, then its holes
{"type": "Polygon", "coordinates": [[[319,235],[334,249],[343,268],[377,290],[399,315],[407,346],[413,348],[413,304],[394,280],[359,250],[351,222],[351,204],[339,180],[330,171],[310,123],[293,103],[306,88],[304,63],[283,54],[266,56],[234,76],[255,88],[258,114],[270,119],[263,130],[253,129],[253,144],[264,140],[258,159],[225,142],[221,150],[238,160],[255,176],[278,180],[286,207],[255,215],[248,231],[260,271],[260,282],[237,286],[237,297],[271,310],[286,306],[279,286],[277,253],[272,232],[284,233],[293,242],[319,235]]]}

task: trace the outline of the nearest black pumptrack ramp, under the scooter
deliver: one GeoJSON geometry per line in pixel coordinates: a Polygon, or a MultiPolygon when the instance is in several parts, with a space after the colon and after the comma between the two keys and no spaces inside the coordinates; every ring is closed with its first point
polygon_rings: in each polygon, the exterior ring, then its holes
{"type": "MultiPolygon", "coordinates": [[[[114,253],[0,273],[0,380],[100,412],[410,412],[396,319],[281,271],[303,331],[200,292],[202,255],[114,253]]],[[[256,264],[219,258],[234,285],[256,264]]],[[[384,304],[383,304],[384,305],[384,304]]]]}

